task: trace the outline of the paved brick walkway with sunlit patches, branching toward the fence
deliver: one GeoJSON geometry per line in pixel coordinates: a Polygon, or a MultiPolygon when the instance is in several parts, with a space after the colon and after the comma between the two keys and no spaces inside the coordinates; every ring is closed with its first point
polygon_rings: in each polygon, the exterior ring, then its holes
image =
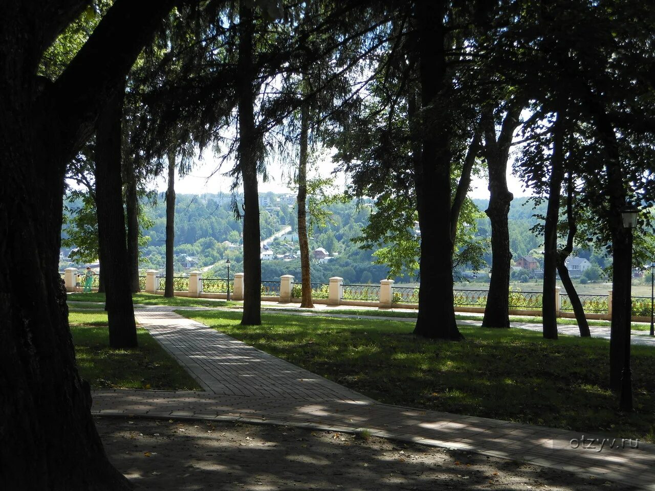
{"type": "Polygon", "coordinates": [[[136,318],[205,391],[94,391],[92,412],[367,429],[375,436],[574,471],[623,482],[626,490],[655,491],[655,445],[377,403],[172,310],[147,308],[136,311],[136,318]]]}

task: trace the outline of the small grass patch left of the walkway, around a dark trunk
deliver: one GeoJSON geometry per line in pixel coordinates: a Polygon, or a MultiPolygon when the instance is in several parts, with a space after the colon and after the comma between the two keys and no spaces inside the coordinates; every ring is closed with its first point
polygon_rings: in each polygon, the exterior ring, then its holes
{"type": "Polygon", "coordinates": [[[109,348],[105,312],[68,316],[80,375],[93,389],[202,390],[145,329],[137,329],[139,348],[109,348]]]}

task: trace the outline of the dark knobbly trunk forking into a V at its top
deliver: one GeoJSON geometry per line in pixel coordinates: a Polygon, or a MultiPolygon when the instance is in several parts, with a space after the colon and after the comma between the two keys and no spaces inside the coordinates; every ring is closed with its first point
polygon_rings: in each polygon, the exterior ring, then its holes
{"type": "Polygon", "coordinates": [[[491,222],[491,281],[482,327],[510,327],[510,231],[507,217],[514,199],[507,188],[507,161],[514,130],[518,126],[519,107],[512,107],[505,116],[496,140],[491,109],[485,111],[481,124],[485,132],[484,155],[489,169],[489,206],[485,209],[491,222]]]}

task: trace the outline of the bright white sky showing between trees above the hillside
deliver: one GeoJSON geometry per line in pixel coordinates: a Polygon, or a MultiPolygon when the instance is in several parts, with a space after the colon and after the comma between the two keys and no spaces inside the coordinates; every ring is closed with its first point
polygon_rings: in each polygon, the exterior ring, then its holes
{"type": "MultiPolygon", "coordinates": [[[[205,156],[203,160],[196,161],[196,165],[193,167],[192,172],[185,177],[178,177],[175,183],[175,191],[178,194],[219,194],[224,192],[229,194],[230,185],[232,183],[231,177],[226,177],[223,175],[223,172],[227,172],[231,168],[231,165],[228,163],[225,165],[224,169],[219,172],[214,172],[217,168],[218,160],[213,156],[205,156]],[[212,175],[214,173],[214,175],[212,175]],[[211,177],[210,177],[211,176],[211,177]]],[[[329,158],[326,158],[318,162],[317,169],[314,171],[320,173],[322,177],[327,177],[334,170],[335,164],[331,162],[329,158]]],[[[510,192],[514,194],[514,197],[518,196],[527,196],[531,194],[529,191],[526,191],[521,186],[521,181],[514,177],[511,173],[512,166],[508,166],[508,188],[510,192]]],[[[277,192],[277,193],[287,193],[293,192],[288,187],[288,178],[284,177],[283,174],[288,175],[288,171],[284,172],[282,167],[279,164],[271,164],[269,166],[269,181],[263,183],[261,177],[259,179],[259,192],[277,192]]],[[[344,173],[337,173],[336,175],[336,184],[337,187],[343,189],[343,186],[346,182],[346,176],[344,173]]],[[[166,191],[166,178],[159,177],[155,181],[155,186],[158,191],[166,191]]],[[[472,179],[472,191],[469,196],[476,199],[489,199],[489,191],[487,190],[487,181],[485,179],[480,179],[474,177],[472,179]]]]}

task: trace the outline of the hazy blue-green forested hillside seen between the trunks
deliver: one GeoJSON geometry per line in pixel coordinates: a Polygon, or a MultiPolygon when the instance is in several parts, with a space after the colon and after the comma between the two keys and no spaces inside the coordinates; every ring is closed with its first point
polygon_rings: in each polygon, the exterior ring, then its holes
{"type": "MultiPolygon", "coordinates": [[[[238,202],[239,196],[237,196],[238,202]]],[[[297,231],[297,209],[289,195],[272,192],[261,194],[263,203],[260,211],[261,239],[264,240],[291,227],[291,234],[297,231]]],[[[479,211],[484,211],[488,200],[472,200],[479,211]]],[[[147,225],[142,230],[143,245],[140,247],[141,268],[164,269],[165,238],[166,238],[166,207],[162,198],[152,201],[143,200],[143,223],[147,225]]],[[[67,202],[68,215],[82,206],[81,201],[67,202]]],[[[310,236],[310,249],[323,247],[332,259],[326,263],[312,263],[312,280],[327,282],[331,276],[341,276],[347,283],[377,283],[388,276],[385,264],[377,264],[375,249],[360,249],[354,239],[362,236],[364,227],[369,223],[373,212],[368,202],[339,201],[324,207],[326,219],[324,223],[314,223],[310,236]]],[[[531,198],[518,197],[512,201],[508,216],[510,230],[510,249],[514,259],[524,255],[533,255],[542,261],[540,250],[543,248],[543,237],[534,234],[531,228],[540,222],[539,215],[546,213],[546,203],[535,205],[531,198]]],[[[484,213],[476,221],[474,238],[487,244],[491,238],[491,225],[484,213]]],[[[69,228],[64,227],[62,238],[68,238],[69,228]]],[[[295,238],[293,236],[288,239],[295,238]]],[[[234,217],[231,208],[231,196],[228,194],[178,194],[176,200],[175,220],[175,257],[176,272],[185,274],[191,269],[206,270],[204,276],[224,276],[224,263],[231,261],[231,271],[242,271],[242,221],[234,217]],[[226,244],[225,242],[229,242],[226,244]],[[193,259],[189,266],[187,258],[193,259]],[[208,266],[216,265],[215,268],[208,266]]],[[[586,244],[584,244],[586,245],[586,244]]],[[[295,253],[299,246],[295,240],[278,238],[271,242],[271,250],[275,257],[284,253],[295,253]]],[[[69,250],[65,251],[67,254],[69,250]]],[[[604,251],[593,251],[589,247],[576,249],[576,254],[588,259],[594,267],[605,268],[608,265],[604,251]]],[[[484,249],[483,264],[491,264],[491,249],[484,249]]],[[[65,264],[62,264],[62,267],[65,264]]],[[[459,268],[460,275],[474,274],[470,265],[459,268]]],[[[299,259],[274,259],[263,261],[262,275],[265,280],[275,280],[282,274],[292,274],[300,280],[299,259]]],[[[417,274],[417,272],[415,272],[417,274]]],[[[399,282],[415,281],[414,276],[398,276],[399,282]]]]}

